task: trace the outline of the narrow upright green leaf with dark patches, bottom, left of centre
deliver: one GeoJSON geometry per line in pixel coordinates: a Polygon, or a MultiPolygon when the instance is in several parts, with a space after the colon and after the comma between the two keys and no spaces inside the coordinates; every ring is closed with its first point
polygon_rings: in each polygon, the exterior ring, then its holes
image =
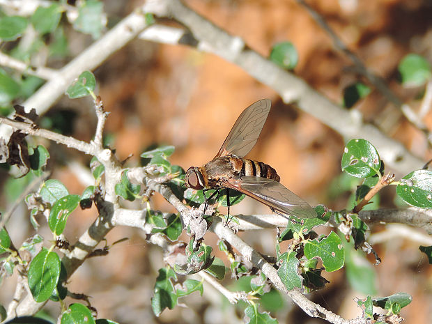
{"type": "Polygon", "coordinates": [[[171,278],[177,280],[176,272],[173,269],[169,267],[159,269],[153,298],[151,298],[151,308],[156,316],[160,316],[165,308],[173,309],[177,304],[177,294],[171,278]]]}

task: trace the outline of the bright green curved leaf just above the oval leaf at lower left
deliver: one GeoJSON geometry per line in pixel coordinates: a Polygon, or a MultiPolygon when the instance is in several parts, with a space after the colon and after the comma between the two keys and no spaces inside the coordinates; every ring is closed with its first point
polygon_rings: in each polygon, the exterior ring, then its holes
{"type": "Polygon", "coordinates": [[[68,194],[54,203],[49,212],[49,229],[56,235],[63,233],[66,221],[72,211],[78,207],[81,198],[77,194],[68,194]]]}

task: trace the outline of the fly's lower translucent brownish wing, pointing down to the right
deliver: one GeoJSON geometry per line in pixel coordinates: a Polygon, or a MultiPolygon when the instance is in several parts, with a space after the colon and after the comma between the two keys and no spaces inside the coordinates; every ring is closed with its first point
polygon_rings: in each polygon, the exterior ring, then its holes
{"type": "Polygon", "coordinates": [[[300,218],[317,216],[309,203],[272,179],[256,176],[233,177],[225,181],[223,185],[247,194],[279,213],[300,218]]]}

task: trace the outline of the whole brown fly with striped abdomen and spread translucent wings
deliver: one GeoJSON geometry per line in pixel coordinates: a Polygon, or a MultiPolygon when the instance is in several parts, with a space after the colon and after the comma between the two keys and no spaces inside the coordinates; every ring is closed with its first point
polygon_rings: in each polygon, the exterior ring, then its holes
{"type": "Polygon", "coordinates": [[[279,183],[275,169],[263,162],[244,159],[252,150],[270,111],[271,101],[262,99],[238,117],[217,155],[202,167],[187,169],[185,184],[195,190],[229,189],[264,203],[286,218],[316,217],[314,208],[279,183]]]}

